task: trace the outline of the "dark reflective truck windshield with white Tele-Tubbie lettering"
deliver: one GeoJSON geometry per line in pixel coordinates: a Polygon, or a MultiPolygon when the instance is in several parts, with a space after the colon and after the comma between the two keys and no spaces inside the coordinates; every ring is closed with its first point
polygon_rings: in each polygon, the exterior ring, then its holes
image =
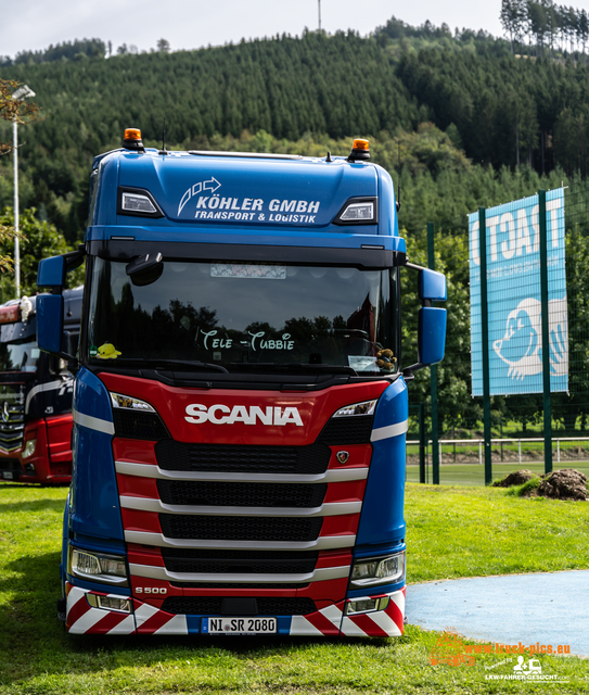
{"type": "Polygon", "coordinates": [[[397,369],[396,269],[166,261],[136,285],[126,266],[93,258],[91,365],[397,369]]]}

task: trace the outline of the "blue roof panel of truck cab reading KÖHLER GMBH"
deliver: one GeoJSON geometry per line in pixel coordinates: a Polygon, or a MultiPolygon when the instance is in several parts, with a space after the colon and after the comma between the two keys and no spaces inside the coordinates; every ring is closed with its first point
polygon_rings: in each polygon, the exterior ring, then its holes
{"type": "MultiPolygon", "coordinates": [[[[357,224],[375,225],[379,179],[388,177],[384,169],[373,164],[349,163],[343,159],[331,162],[308,157],[270,160],[187,152],[166,156],[155,152],[116,153],[102,160],[102,176],[114,177],[107,169],[115,164],[118,164],[119,215],[149,217],[152,200],[156,204],[153,207],[161,208],[169,220],[231,225],[317,227],[334,222],[340,224],[336,220],[343,205],[351,199],[366,198],[375,201],[374,217],[359,218],[357,224]],[[143,190],[144,206],[139,199],[133,199],[129,210],[124,210],[120,191],[126,188],[135,195],[141,195],[143,190]]],[[[103,218],[103,203],[97,210],[102,212],[93,224],[112,224],[103,218]]],[[[161,217],[156,212],[153,216],[161,217]]]]}

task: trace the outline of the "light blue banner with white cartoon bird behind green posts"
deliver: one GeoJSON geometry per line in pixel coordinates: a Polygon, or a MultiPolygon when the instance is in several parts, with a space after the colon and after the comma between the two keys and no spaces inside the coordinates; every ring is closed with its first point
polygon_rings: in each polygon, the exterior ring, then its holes
{"type": "MultiPolygon", "coordinates": [[[[568,390],[564,189],[546,194],[550,390],[568,390]]],[[[491,395],[542,392],[538,195],[487,208],[491,395]]],[[[483,395],[478,213],[469,215],[473,395],[483,395]]]]}

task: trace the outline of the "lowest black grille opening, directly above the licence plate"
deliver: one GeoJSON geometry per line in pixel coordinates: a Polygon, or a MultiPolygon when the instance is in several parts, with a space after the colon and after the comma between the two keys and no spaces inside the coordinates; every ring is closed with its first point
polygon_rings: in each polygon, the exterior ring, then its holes
{"type": "Polygon", "coordinates": [[[222,616],[306,616],[316,610],[310,598],[282,598],[259,596],[247,598],[246,612],[235,610],[235,601],[223,596],[169,596],[162,605],[162,610],[176,615],[222,616]]]}

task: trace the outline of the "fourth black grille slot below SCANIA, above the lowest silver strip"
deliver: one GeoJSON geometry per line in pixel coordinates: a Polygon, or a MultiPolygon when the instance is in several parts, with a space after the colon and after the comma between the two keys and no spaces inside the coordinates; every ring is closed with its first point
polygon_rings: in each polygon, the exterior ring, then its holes
{"type": "Polygon", "coordinates": [[[289,551],[200,551],[162,548],[170,572],[303,574],[312,572],[319,553],[289,551]]]}

